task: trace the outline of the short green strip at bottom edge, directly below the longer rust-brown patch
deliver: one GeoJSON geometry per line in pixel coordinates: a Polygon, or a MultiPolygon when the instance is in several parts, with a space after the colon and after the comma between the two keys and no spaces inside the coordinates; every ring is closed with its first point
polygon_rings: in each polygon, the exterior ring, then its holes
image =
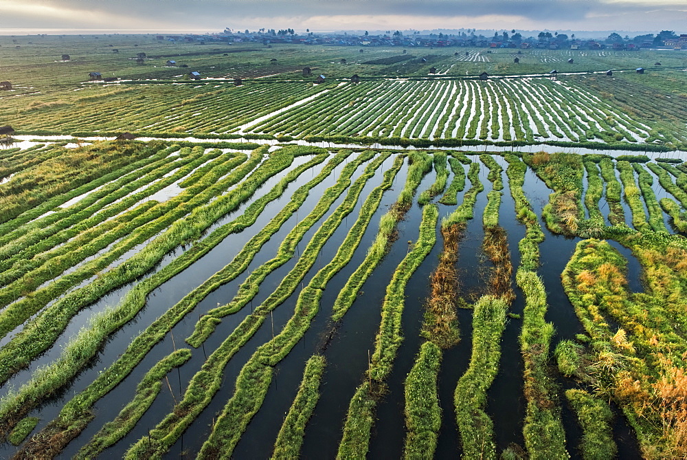
{"type": "Polygon", "coordinates": [[[441,428],[437,379],[442,351],[425,342],[405,379],[405,459],[431,459],[441,428]]]}

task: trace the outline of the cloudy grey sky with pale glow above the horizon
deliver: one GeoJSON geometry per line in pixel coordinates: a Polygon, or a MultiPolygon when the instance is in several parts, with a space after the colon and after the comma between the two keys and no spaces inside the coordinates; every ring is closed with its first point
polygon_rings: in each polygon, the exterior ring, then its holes
{"type": "Polygon", "coordinates": [[[687,0],[0,0],[0,34],[276,30],[687,33],[687,0]]]}

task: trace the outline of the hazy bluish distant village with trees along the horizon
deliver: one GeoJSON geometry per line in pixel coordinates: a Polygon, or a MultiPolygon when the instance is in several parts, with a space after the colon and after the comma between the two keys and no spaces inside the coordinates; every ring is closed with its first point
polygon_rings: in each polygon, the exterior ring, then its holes
{"type": "Polygon", "coordinates": [[[206,35],[158,35],[158,40],[183,41],[205,44],[207,41],[228,43],[290,43],[300,45],[335,45],[335,46],[398,46],[398,47],[491,47],[546,49],[546,50],[687,50],[687,34],[675,34],[671,30],[664,30],[659,34],[644,34],[633,38],[612,33],[605,39],[576,39],[575,34],[559,34],[558,32],[539,32],[537,36],[523,37],[515,30],[495,32],[493,36],[475,34],[476,30],[468,29],[459,34],[403,34],[403,32],[387,31],[385,34],[328,33],[315,34],[306,32],[298,34],[293,29],[264,30],[249,32],[249,30],[233,31],[225,29],[220,34],[206,35]]]}

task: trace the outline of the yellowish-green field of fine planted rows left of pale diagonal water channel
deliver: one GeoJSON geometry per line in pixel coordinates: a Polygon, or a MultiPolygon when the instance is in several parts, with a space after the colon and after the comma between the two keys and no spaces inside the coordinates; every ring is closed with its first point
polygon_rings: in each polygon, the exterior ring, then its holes
{"type": "Polygon", "coordinates": [[[26,132],[90,131],[98,126],[100,131],[223,133],[313,92],[307,85],[287,83],[227,88],[199,94],[199,89],[186,85],[156,85],[141,88],[138,97],[106,93],[93,100],[67,100],[65,105],[41,109],[41,117],[34,112],[20,115],[15,124],[26,132]],[[98,108],[90,110],[95,105],[98,108]]]}

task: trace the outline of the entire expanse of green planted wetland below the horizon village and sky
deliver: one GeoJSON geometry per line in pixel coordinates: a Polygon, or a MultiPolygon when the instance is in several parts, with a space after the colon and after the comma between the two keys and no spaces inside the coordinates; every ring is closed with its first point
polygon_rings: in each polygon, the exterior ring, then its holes
{"type": "Polygon", "coordinates": [[[0,45],[3,457],[687,455],[687,54],[0,45]]]}

